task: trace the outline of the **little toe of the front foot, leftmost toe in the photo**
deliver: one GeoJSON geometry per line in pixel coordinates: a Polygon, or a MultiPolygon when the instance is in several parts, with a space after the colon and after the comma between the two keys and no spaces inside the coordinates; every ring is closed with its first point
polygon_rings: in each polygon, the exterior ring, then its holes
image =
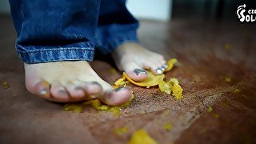
{"type": "Polygon", "coordinates": [[[44,80],[38,82],[34,86],[34,91],[39,96],[42,96],[43,98],[50,98],[50,84],[49,82],[46,82],[44,80]]]}

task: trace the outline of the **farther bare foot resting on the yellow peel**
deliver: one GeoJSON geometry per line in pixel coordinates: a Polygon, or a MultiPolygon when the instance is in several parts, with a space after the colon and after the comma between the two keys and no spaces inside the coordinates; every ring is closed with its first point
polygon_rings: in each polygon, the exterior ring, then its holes
{"type": "Polygon", "coordinates": [[[126,42],[112,53],[119,70],[123,70],[134,81],[143,81],[147,78],[145,70],[154,74],[162,74],[167,68],[166,60],[162,55],[146,50],[134,42],[126,42]]]}

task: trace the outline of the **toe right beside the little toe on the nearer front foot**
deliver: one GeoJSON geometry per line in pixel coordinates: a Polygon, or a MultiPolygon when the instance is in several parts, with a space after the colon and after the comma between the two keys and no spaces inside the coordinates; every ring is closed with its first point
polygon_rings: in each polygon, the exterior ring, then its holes
{"type": "Polygon", "coordinates": [[[50,87],[51,97],[57,102],[67,102],[69,100],[69,94],[64,86],[59,82],[53,82],[50,87]]]}

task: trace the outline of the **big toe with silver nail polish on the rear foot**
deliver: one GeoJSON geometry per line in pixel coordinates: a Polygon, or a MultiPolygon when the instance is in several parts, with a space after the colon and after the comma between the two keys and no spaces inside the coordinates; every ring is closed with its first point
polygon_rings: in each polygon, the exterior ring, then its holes
{"type": "Polygon", "coordinates": [[[146,70],[143,70],[136,63],[127,63],[126,66],[124,66],[124,70],[131,79],[137,82],[142,82],[148,77],[146,70]]]}

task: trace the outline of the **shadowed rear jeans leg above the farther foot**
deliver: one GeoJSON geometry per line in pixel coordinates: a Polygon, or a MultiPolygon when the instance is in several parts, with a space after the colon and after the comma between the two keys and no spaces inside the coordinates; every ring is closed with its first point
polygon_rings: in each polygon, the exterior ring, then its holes
{"type": "Polygon", "coordinates": [[[138,20],[126,9],[126,0],[102,0],[96,29],[97,48],[111,53],[124,42],[138,42],[138,20]]]}

